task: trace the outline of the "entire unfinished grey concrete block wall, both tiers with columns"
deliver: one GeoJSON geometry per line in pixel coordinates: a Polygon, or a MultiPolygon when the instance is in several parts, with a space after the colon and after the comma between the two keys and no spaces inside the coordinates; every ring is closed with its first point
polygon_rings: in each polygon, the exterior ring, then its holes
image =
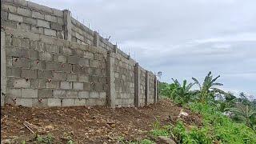
{"type": "Polygon", "coordinates": [[[76,19],[23,0],[2,0],[1,103],[146,106],[158,80],[76,19]]]}

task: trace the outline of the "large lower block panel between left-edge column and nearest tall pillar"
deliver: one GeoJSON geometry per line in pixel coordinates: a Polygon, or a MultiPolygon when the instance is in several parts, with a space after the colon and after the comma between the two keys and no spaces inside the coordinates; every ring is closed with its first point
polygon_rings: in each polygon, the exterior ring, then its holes
{"type": "Polygon", "coordinates": [[[18,30],[5,42],[6,103],[106,105],[106,51],[18,30]]]}

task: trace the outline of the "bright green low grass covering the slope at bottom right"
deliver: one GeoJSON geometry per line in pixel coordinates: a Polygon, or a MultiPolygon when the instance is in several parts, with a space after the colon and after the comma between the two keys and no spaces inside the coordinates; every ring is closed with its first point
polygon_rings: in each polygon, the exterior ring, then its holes
{"type": "Polygon", "coordinates": [[[197,143],[256,143],[254,130],[243,123],[233,122],[230,118],[222,115],[214,106],[201,103],[190,104],[190,110],[202,115],[202,126],[190,126],[178,121],[175,125],[156,127],[150,134],[158,136],[169,136],[178,143],[197,144],[197,143]]]}

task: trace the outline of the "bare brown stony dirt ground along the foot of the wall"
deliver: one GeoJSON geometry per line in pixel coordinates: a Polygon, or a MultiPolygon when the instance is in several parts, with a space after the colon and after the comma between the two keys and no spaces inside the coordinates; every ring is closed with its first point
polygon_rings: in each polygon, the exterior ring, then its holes
{"type": "MultiPolygon", "coordinates": [[[[28,108],[4,106],[1,109],[1,140],[33,143],[39,135],[52,134],[54,143],[116,143],[149,138],[156,118],[165,125],[175,122],[182,107],[168,100],[140,108],[52,107],[28,108]],[[30,130],[29,130],[30,129],[30,130]]],[[[183,118],[186,123],[200,124],[198,114],[183,118]]]]}

